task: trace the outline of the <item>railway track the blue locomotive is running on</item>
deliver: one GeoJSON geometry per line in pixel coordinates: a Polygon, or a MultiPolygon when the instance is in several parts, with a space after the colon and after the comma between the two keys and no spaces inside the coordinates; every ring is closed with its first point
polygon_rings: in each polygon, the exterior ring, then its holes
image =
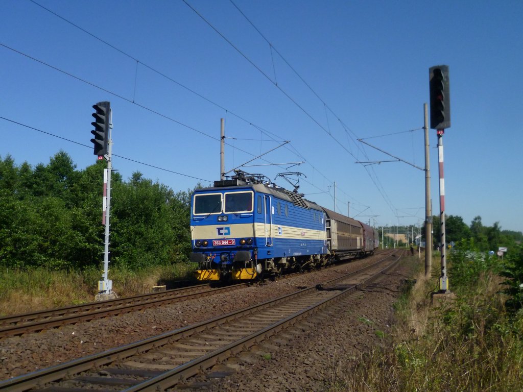
{"type": "MultiPolygon", "coordinates": [[[[384,251],[384,253],[387,253],[387,251],[384,251]]],[[[292,275],[294,275],[294,273],[282,275],[281,278],[288,278],[292,275]]],[[[210,284],[198,284],[164,292],[140,294],[132,297],[115,298],[101,302],[90,302],[81,305],[40,310],[32,313],[4,316],[0,317],[0,339],[24,335],[24,333],[59,328],[78,322],[136,312],[137,310],[187,301],[198,297],[237,290],[243,287],[245,287],[245,283],[219,287],[211,287],[210,284]]]]}

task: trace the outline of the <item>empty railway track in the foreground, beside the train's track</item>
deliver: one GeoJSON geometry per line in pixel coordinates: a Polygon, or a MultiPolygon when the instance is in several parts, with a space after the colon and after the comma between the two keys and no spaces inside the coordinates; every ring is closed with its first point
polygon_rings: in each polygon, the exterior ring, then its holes
{"type": "Polygon", "coordinates": [[[316,287],[9,379],[0,391],[165,390],[365,287],[400,260],[389,256],[316,287]]]}

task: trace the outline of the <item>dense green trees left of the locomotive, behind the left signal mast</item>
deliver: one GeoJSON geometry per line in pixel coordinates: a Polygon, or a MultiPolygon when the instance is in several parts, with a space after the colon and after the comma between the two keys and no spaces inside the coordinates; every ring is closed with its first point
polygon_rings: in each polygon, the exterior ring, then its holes
{"type": "MultiPolygon", "coordinates": [[[[0,157],[0,265],[81,269],[104,256],[105,163],[77,170],[60,151],[47,165],[0,157]]],[[[111,261],[129,268],[187,260],[190,191],[135,172],[111,176],[111,261]]],[[[199,186],[199,185],[198,185],[199,186]]]]}

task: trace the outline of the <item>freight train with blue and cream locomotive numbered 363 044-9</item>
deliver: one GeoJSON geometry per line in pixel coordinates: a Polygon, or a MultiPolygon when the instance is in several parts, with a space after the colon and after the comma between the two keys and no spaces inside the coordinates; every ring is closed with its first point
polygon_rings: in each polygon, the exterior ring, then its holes
{"type": "Polygon", "coordinates": [[[191,261],[200,281],[321,268],[378,248],[376,229],[236,170],[191,195],[191,261]]]}

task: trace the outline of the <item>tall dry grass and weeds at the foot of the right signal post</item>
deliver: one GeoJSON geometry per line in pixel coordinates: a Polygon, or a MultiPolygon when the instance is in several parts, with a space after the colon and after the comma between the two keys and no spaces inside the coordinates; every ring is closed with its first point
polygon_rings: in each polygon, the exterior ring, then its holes
{"type": "Polygon", "coordinates": [[[502,279],[482,273],[453,301],[431,304],[437,280],[419,274],[382,347],[341,358],[328,391],[523,391],[523,314],[506,313],[502,279]]]}

